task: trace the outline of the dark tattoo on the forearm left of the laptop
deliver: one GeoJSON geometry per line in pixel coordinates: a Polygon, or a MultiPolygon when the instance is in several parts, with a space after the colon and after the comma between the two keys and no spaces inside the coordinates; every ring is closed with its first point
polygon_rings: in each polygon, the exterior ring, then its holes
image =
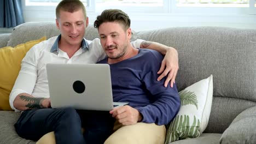
{"type": "Polygon", "coordinates": [[[28,107],[28,109],[44,108],[42,105],[42,101],[45,98],[32,98],[32,97],[27,97],[26,95],[21,95],[20,98],[24,101],[28,101],[28,104],[26,105],[26,107],[28,107]]]}

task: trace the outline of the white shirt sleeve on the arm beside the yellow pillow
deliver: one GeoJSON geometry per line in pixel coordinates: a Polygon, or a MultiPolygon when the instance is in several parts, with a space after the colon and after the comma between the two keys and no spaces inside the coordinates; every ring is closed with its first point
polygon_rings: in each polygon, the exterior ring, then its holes
{"type": "MultiPolygon", "coordinates": [[[[36,46],[34,46],[36,47],[36,46]]],[[[32,94],[37,80],[36,56],[33,47],[26,53],[26,56],[21,61],[21,69],[14,83],[13,89],[9,95],[9,103],[11,109],[15,109],[13,102],[20,93],[32,94]]]]}

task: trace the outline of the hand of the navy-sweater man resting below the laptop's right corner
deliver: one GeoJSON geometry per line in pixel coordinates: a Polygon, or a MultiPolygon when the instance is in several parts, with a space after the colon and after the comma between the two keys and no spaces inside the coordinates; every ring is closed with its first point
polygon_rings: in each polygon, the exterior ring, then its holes
{"type": "Polygon", "coordinates": [[[115,107],[109,113],[123,125],[136,124],[142,120],[139,111],[129,105],[115,107]]]}

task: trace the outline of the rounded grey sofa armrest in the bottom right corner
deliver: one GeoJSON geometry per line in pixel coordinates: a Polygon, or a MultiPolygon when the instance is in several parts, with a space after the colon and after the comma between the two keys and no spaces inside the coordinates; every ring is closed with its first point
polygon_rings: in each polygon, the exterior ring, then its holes
{"type": "Polygon", "coordinates": [[[224,131],[220,143],[256,143],[256,106],[241,112],[224,131]]]}

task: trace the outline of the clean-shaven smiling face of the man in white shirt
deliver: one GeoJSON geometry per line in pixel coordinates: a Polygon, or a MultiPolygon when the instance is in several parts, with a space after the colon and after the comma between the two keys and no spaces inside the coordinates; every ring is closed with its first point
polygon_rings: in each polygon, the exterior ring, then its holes
{"type": "Polygon", "coordinates": [[[85,20],[82,9],[70,13],[60,11],[56,19],[56,26],[61,31],[61,44],[71,47],[80,47],[84,38],[85,28],[88,26],[88,18],[85,20]]]}

